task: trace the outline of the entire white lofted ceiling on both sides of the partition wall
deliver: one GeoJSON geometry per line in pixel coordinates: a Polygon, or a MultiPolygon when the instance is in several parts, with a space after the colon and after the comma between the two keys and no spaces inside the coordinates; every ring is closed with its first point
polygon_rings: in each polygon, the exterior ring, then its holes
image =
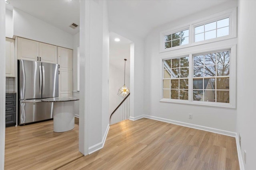
{"type": "MultiPolygon", "coordinates": [[[[6,8],[18,8],[72,35],[79,27],[80,0],[8,0],[6,8]]],[[[130,33],[145,37],[154,27],[228,0],[107,0],[109,20],[130,33]]]]}

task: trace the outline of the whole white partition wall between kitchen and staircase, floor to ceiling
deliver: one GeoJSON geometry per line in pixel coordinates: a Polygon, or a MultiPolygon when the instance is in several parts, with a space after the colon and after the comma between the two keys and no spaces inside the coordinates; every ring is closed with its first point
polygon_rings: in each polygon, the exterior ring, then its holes
{"type": "Polygon", "coordinates": [[[106,1],[80,2],[79,150],[83,154],[103,147],[109,127],[106,10],[106,1]]]}

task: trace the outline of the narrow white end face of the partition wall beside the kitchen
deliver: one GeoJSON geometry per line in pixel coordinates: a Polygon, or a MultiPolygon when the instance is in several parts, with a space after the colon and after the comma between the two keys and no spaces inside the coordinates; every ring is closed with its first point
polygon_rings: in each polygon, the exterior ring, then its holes
{"type": "Polygon", "coordinates": [[[88,154],[89,141],[89,76],[90,76],[90,1],[80,1],[80,100],[79,151],[88,154]]]}

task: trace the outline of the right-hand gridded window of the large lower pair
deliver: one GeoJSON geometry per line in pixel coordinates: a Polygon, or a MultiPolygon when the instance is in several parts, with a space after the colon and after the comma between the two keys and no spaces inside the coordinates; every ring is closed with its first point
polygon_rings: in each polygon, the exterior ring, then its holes
{"type": "Polygon", "coordinates": [[[229,103],[230,51],[193,56],[193,101],[229,103]]]}

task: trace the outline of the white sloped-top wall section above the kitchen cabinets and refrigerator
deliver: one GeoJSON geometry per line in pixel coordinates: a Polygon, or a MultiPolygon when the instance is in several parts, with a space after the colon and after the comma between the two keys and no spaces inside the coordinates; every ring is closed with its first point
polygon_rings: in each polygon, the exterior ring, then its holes
{"type": "Polygon", "coordinates": [[[13,9],[13,26],[16,36],[73,49],[73,35],[17,8],[13,9]]]}

